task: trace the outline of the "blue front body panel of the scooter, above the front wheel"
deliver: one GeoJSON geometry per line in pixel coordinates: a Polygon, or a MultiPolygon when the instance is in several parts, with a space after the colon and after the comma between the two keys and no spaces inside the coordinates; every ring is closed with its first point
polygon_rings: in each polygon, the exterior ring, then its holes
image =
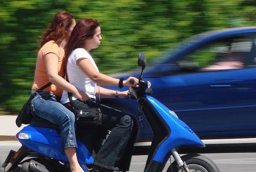
{"type": "Polygon", "coordinates": [[[157,149],[157,152],[153,157],[154,161],[163,162],[170,150],[178,146],[205,146],[193,130],[191,130],[187,124],[182,122],[182,120],[179,120],[168,107],[151,96],[146,96],[146,99],[152,103],[153,107],[155,107],[171,130],[170,136],[166,138],[157,149]]]}

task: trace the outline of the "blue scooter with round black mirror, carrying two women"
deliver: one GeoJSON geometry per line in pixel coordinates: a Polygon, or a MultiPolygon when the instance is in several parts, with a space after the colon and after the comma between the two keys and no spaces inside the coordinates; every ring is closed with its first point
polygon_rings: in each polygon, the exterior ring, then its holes
{"type": "MultiPolygon", "coordinates": [[[[187,154],[180,157],[178,148],[182,146],[201,146],[205,144],[178,116],[152,94],[151,84],[143,80],[142,73],[146,67],[146,58],[140,53],[138,59],[142,72],[139,87],[131,87],[127,99],[137,99],[142,111],[153,131],[145,172],[163,171],[166,162],[173,156],[167,172],[219,172],[218,166],[208,157],[199,154],[187,154]]],[[[130,80],[130,82],[134,82],[130,80]]],[[[139,113],[142,114],[142,113],[139,113]]],[[[31,124],[17,134],[22,144],[18,151],[11,150],[2,167],[4,171],[51,172],[70,171],[68,158],[61,149],[59,127],[55,124],[34,117],[31,124]]],[[[93,156],[81,141],[77,140],[77,158],[84,171],[89,172],[93,164],[93,156]]]]}

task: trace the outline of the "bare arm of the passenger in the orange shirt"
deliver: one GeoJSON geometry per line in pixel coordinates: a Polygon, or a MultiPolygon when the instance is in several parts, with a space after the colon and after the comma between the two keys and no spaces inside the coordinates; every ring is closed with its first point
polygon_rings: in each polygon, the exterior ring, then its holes
{"type": "Polygon", "coordinates": [[[81,101],[87,101],[90,99],[88,95],[81,90],[77,89],[74,85],[67,82],[63,77],[58,75],[58,56],[55,53],[47,53],[45,55],[45,67],[48,79],[51,83],[62,90],[71,92],[78,97],[81,101]]]}

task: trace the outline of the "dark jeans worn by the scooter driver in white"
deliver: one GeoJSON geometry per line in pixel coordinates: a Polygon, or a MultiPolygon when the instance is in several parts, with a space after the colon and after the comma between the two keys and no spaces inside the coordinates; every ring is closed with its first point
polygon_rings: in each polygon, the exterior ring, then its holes
{"type": "MultiPolygon", "coordinates": [[[[109,137],[99,149],[96,150],[94,165],[109,170],[128,171],[133,154],[133,144],[137,136],[137,124],[132,117],[120,110],[88,100],[80,102],[74,100],[73,107],[100,107],[103,117],[101,125],[87,128],[77,126],[77,138],[82,141],[89,151],[99,146],[101,136],[111,130],[109,137]]],[[[67,106],[67,104],[65,104],[67,106]]]]}

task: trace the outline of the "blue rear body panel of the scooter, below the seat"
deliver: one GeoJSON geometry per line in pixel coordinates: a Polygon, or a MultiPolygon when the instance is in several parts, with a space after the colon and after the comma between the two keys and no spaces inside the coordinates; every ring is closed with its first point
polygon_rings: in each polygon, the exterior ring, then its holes
{"type": "MultiPolygon", "coordinates": [[[[68,162],[68,158],[61,147],[60,134],[55,129],[29,125],[19,131],[18,140],[25,147],[44,156],[68,162]],[[28,138],[22,139],[23,137],[20,137],[22,133],[27,134],[28,138]]],[[[93,163],[94,161],[86,146],[79,140],[77,140],[77,158],[81,164],[93,163]]]]}

